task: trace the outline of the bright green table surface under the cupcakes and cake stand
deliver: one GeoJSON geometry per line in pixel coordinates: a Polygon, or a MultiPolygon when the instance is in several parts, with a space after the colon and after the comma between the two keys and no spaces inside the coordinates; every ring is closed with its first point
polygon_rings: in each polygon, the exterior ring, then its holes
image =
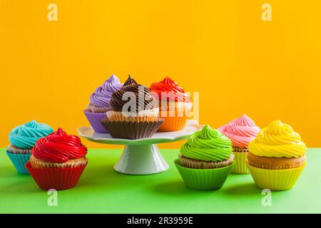
{"type": "Polygon", "coordinates": [[[307,151],[307,166],[292,190],[272,192],[263,206],[250,175],[230,175],[220,190],[185,187],[173,160],[178,150],[162,150],[170,169],[156,175],[123,175],[113,170],[121,150],[89,150],[78,185],[58,191],[58,206],[30,175],[16,172],[0,149],[1,213],[320,213],[321,148],[307,151]]]}

